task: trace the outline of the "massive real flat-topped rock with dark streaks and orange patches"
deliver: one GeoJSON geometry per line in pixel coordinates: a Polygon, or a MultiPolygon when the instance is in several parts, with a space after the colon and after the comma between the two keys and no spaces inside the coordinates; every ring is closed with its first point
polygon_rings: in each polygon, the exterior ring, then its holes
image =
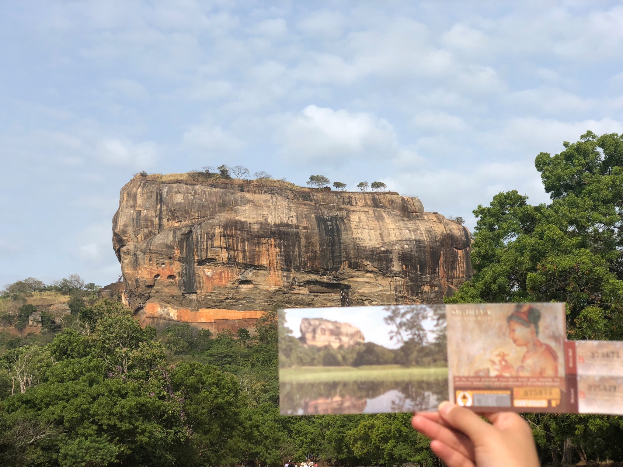
{"type": "Polygon", "coordinates": [[[113,218],[145,324],[214,328],[224,310],[238,319],[235,311],[441,303],[471,275],[468,230],[417,198],[184,175],[135,177],[113,218]]]}

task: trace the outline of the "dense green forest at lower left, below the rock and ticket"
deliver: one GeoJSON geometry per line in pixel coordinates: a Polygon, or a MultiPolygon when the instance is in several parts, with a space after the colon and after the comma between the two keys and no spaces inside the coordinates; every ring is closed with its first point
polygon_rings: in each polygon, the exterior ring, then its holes
{"type": "Polygon", "coordinates": [[[275,466],[308,453],[436,465],[408,415],[278,415],[274,312],[252,333],[216,336],[184,325],[156,336],[106,300],[77,318],[49,344],[19,340],[2,356],[1,465],[275,466]],[[10,395],[6,365],[25,359],[31,378],[10,395]]]}

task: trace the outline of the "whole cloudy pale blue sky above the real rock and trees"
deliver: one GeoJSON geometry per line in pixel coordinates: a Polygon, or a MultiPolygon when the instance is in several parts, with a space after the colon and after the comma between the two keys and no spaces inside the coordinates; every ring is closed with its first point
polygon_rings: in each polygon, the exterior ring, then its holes
{"type": "Polygon", "coordinates": [[[0,285],[116,280],[141,170],[383,181],[471,229],[548,200],[540,151],[623,133],[617,2],[3,2],[0,40],[0,285]]]}

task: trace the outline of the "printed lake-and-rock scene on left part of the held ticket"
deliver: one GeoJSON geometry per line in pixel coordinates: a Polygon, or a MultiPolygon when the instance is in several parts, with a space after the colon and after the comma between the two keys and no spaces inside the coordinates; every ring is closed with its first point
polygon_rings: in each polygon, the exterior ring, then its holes
{"type": "Polygon", "coordinates": [[[443,305],[279,311],[282,415],[436,410],[448,397],[443,305]]]}

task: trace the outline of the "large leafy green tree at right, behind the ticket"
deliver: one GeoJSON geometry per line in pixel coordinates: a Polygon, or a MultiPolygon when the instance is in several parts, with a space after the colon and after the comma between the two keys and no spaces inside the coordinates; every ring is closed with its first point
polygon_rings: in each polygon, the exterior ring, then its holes
{"type": "MultiPolygon", "coordinates": [[[[623,136],[591,131],[536,156],[550,204],[517,191],[478,205],[475,270],[446,303],[562,301],[571,339],[623,338],[623,136]]],[[[623,419],[530,415],[543,456],[564,440],[589,459],[623,459],[623,419]]]]}

